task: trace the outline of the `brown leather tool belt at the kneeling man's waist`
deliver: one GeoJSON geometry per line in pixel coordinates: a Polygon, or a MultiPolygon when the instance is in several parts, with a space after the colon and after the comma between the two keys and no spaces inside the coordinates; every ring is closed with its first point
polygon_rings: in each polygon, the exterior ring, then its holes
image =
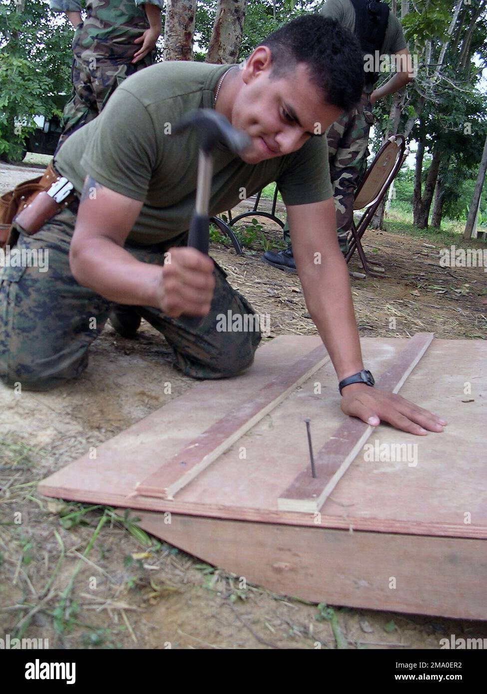
{"type": "Polygon", "coordinates": [[[0,197],[0,248],[7,244],[14,221],[32,236],[75,199],[73,184],[49,163],[42,176],[19,183],[0,197]]]}

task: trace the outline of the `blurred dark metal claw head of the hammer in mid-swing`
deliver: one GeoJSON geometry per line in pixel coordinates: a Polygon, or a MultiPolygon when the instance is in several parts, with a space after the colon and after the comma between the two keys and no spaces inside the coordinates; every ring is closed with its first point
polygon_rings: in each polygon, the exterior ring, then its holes
{"type": "Polygon", "coordinates": [[[232,152],[240,154],[251,144],[246,133],[233,128],[221,113],[211,108],[197,108],[181,118],[174,126],[174,134],[182,133],[186,128],[196,128],[199,137],[199,147],[209,154],[218,142],[222,142],[232,152]]]}

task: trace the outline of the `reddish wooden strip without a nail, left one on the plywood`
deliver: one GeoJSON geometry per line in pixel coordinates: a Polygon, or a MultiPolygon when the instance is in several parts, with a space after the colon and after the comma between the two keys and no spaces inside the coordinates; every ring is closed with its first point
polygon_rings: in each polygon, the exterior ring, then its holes
{"type": "Polygon", "coordinates": [[[179,489],[191,482],[329,360],[323,346],[311,350],[263,386],[255,396],[234,407],[229,414],[192,439],[156,472],[137,484],[136,493],[174,499],[174,494],[179,489]]]}

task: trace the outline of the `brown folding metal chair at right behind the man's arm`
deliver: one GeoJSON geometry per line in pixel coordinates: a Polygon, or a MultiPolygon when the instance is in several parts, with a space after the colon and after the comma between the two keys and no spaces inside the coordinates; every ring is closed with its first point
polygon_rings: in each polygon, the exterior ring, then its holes
{"type": "Polygon", "coordinates": [[[383,272],[383,269],[374,271],[373,266],[380,266],[380,264],[375,261],[368,262],[363,251],[361,238],[365,234],[375,211],[386,195],[390,184],[393,183],[397,176],[397,172],[402,167],[408,153],[409,150],[406,149],[404,135],[391,135],[388,141],[381,146],[379,152],[377,152],[355,194],[354,210],[364,210],[364,212],[358,223],[352,221],[349,250],[347,255],[345,255],[345,260],[349,262],[356,250],[361,259],[363,269],[368,275],[377,275],[378,272],[383,272]]]}

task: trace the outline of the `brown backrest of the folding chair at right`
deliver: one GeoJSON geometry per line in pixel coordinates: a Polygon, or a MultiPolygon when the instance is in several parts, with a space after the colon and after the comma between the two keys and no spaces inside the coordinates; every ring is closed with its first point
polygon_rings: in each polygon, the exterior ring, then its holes
{"type": "Polygon", "coordinates": [[[370,208],[377,200],[381,199],[390,183],[394,180],[397,171],[402,167],[406,158],[406,139],[404,135],[391,135],[385,142],[358,186],[354,210],[370,208]]]}

